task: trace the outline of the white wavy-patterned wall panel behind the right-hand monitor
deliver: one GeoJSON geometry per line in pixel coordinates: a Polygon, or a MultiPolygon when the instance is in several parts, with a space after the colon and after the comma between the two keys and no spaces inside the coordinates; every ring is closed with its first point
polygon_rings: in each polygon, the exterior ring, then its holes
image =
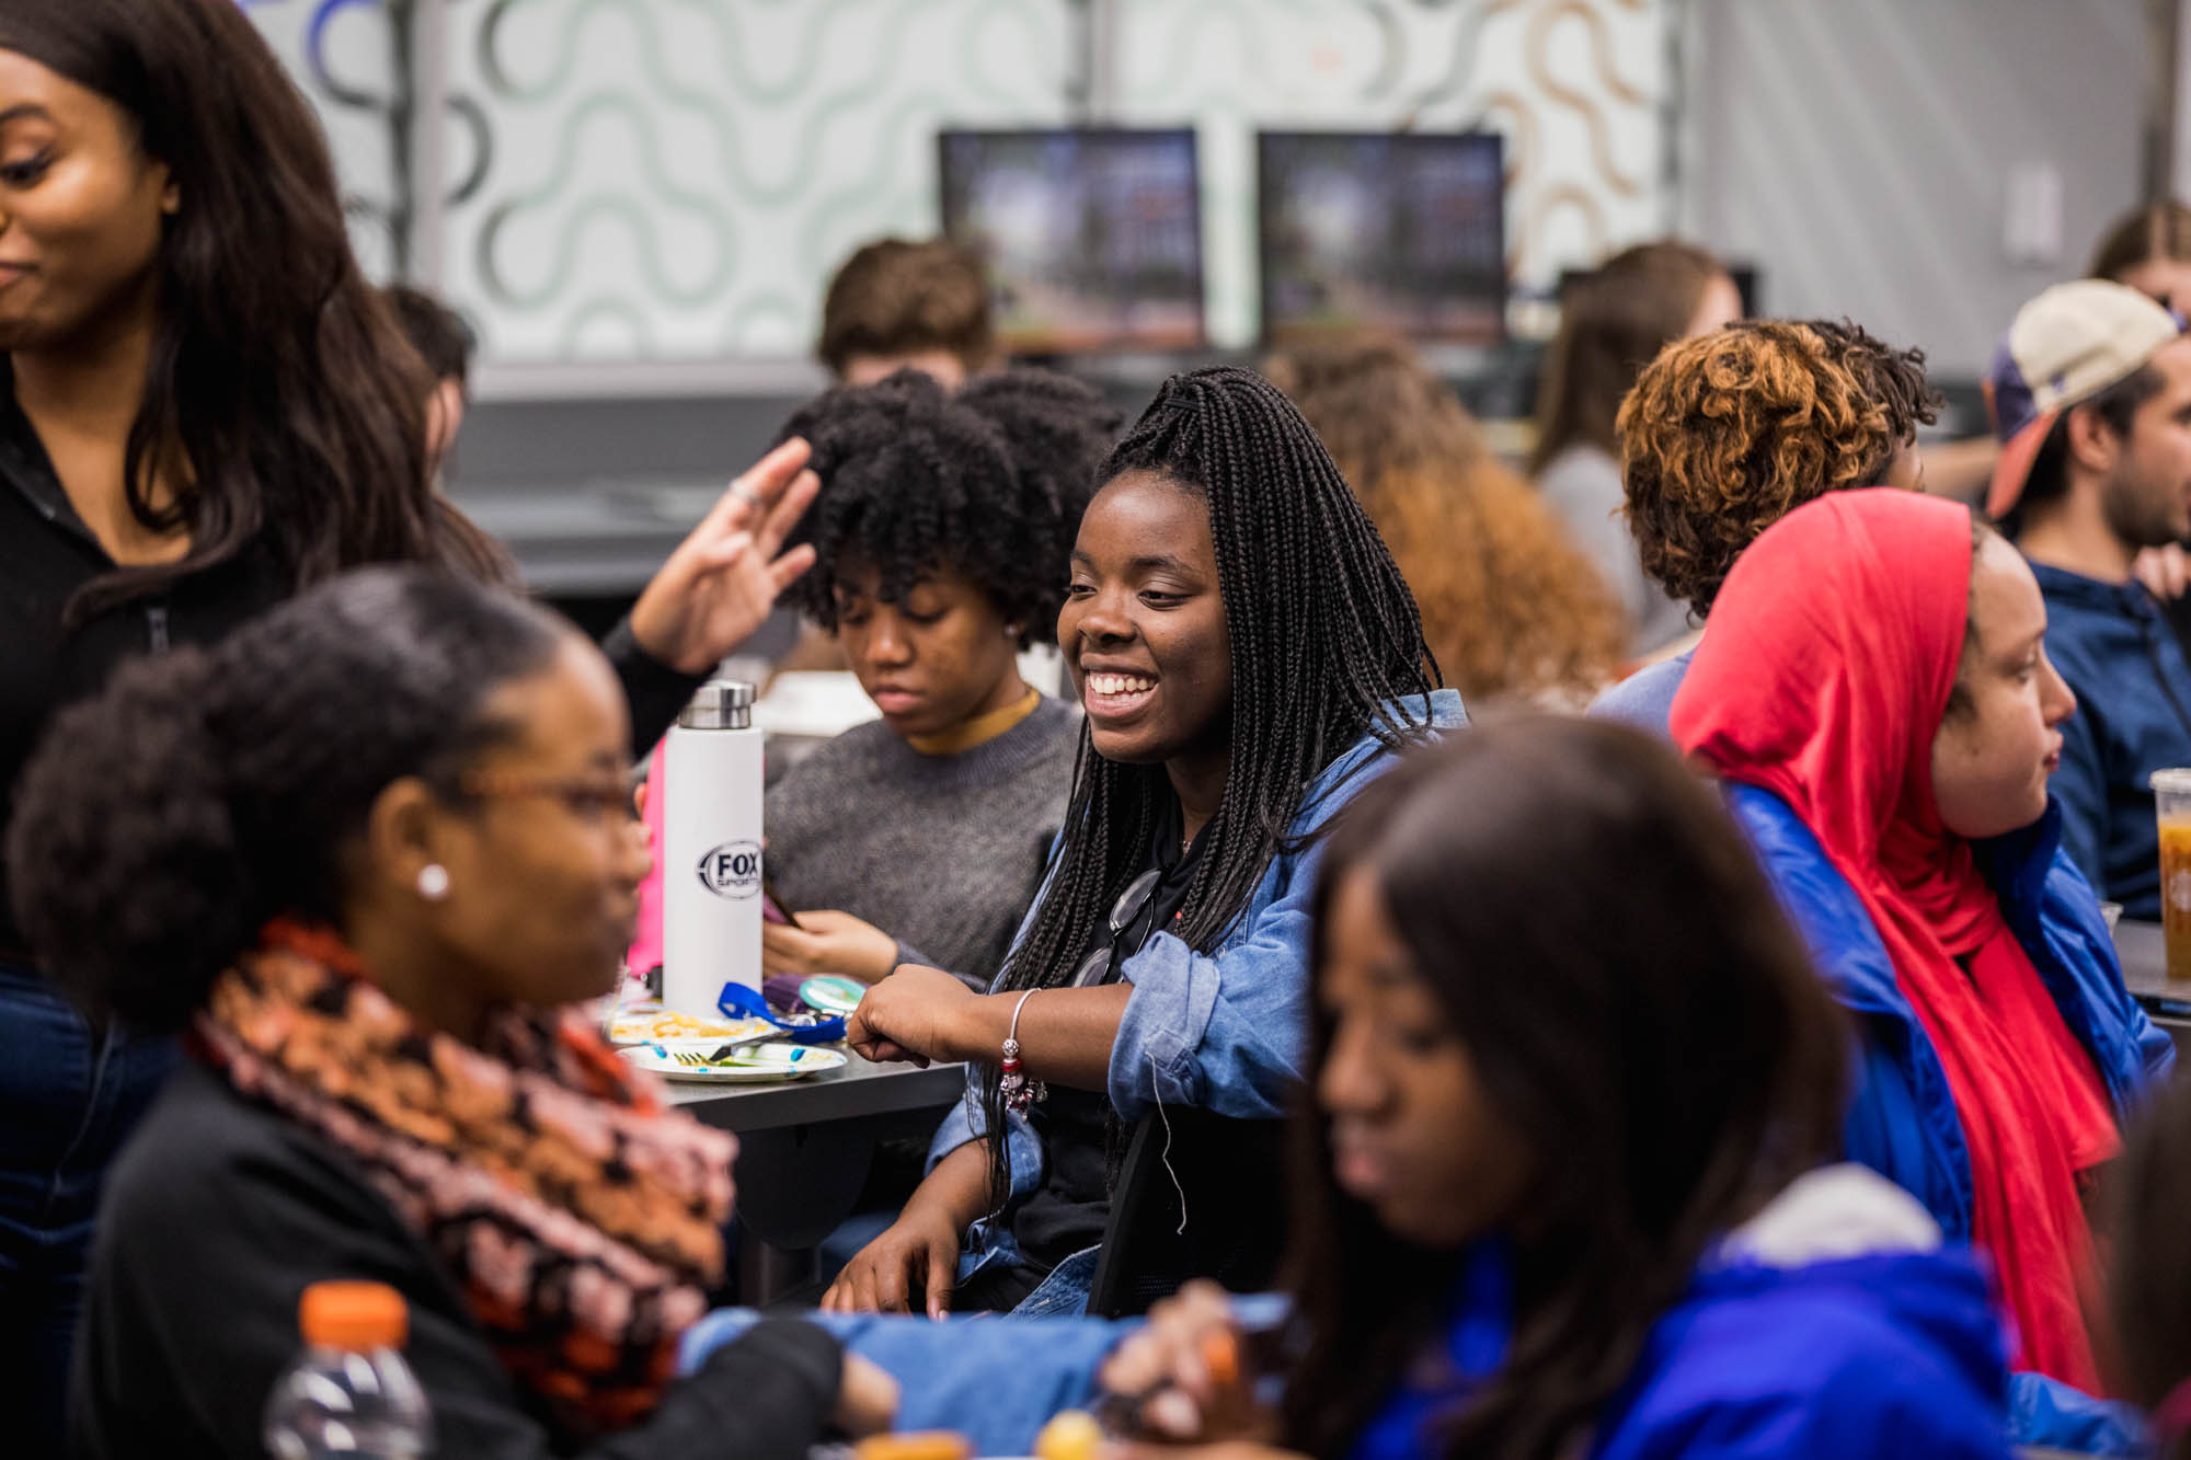
{"type": "Polygon", "coordinates": [[[1126,0],[1120,114],[1192,116],[1212,333],[1255,333],[1255,127],[1492,127],[1507,145],[1510,274],[1656,235],[1667,68],[1661,0],[1126,0]]]}

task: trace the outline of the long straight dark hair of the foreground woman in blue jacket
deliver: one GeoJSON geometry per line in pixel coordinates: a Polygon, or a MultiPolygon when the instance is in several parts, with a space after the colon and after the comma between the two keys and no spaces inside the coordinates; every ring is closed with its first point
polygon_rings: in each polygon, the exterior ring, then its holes
{"type": "MultiPolygon", "coordinates": [[[[1326,844],[1319,965],[1356,870],[1536,1155],[1514,1337],[1444,1453],[1564,1453],[1705,1247],[1838,1147],[1847,1022],[1713,794],[1624,726],[1479,726],[1369,785],[1326,844]]],[[[1330,1046],[1315,1013],[1310,1070],[1330,1046]]],[[[1337,1456],[1437,1342],[1457,1261],[1337,1186],[1321,1114],[1295,1155],[1286,1442],[1337,1456]]]]}

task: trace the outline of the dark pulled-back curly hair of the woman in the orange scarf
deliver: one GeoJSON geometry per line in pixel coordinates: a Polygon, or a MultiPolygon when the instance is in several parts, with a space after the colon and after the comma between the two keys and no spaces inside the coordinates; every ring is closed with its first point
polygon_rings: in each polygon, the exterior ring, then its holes
{"type": "Polygon", "coordinates": [[[83,1006],[164,1033],[276,914],[333,923],[392,780],[460,794],[497,688],[574,629],[436,568],[364,568],[61,710],[7,829],[15,919],[83,1006]]]}

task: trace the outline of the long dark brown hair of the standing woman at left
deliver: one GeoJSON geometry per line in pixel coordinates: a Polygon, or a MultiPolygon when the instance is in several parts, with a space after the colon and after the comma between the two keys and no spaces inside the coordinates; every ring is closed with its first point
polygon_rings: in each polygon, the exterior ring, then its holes
{"type": "Polygon", "coordinates": [[[506,579],[432,487],[425,362],[357,270],[318,118],[234,0],[7,0],[0,48],[123,110],[182,199],[164,221],[129,511],[186,526],[175,563],[125,568],[81,618],[265,537],[294,585],[370,561],[506,579]],[[173,500],[158,467],[180,454],[173,500]]]}

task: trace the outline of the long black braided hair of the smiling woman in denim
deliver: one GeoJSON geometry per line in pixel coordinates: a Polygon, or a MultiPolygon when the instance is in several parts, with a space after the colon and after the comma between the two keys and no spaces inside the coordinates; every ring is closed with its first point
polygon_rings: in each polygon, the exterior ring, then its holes
{"type": "MultiPolygon", "coordinates": [[[[1172,375],[1096,482],[1126,471],[1157,471],[1209,504],[1231,636],[1231,767],[1174,927],[1207,954],[1247,910],[1271,857],[1293,846],[1290,826],[1326,765],[1365,734],[1391,750],[1424,739],[1437,660],[1385,539],[1317,432],[1264,377],[1238,366],[1172,375]]],[[[1065,848],[999,991],[1071,980],[1144,870],[1170,798],[1163,765],[1106,761],[1082,728],[1065,848]]],[[[984,1105],[988,1129],[1003,1131],[995,1068],[984,1074],[984,1105]]],[[[988,1147],[990,1197],[1001,1206],[1006,1142],[988,1147]]]]}

